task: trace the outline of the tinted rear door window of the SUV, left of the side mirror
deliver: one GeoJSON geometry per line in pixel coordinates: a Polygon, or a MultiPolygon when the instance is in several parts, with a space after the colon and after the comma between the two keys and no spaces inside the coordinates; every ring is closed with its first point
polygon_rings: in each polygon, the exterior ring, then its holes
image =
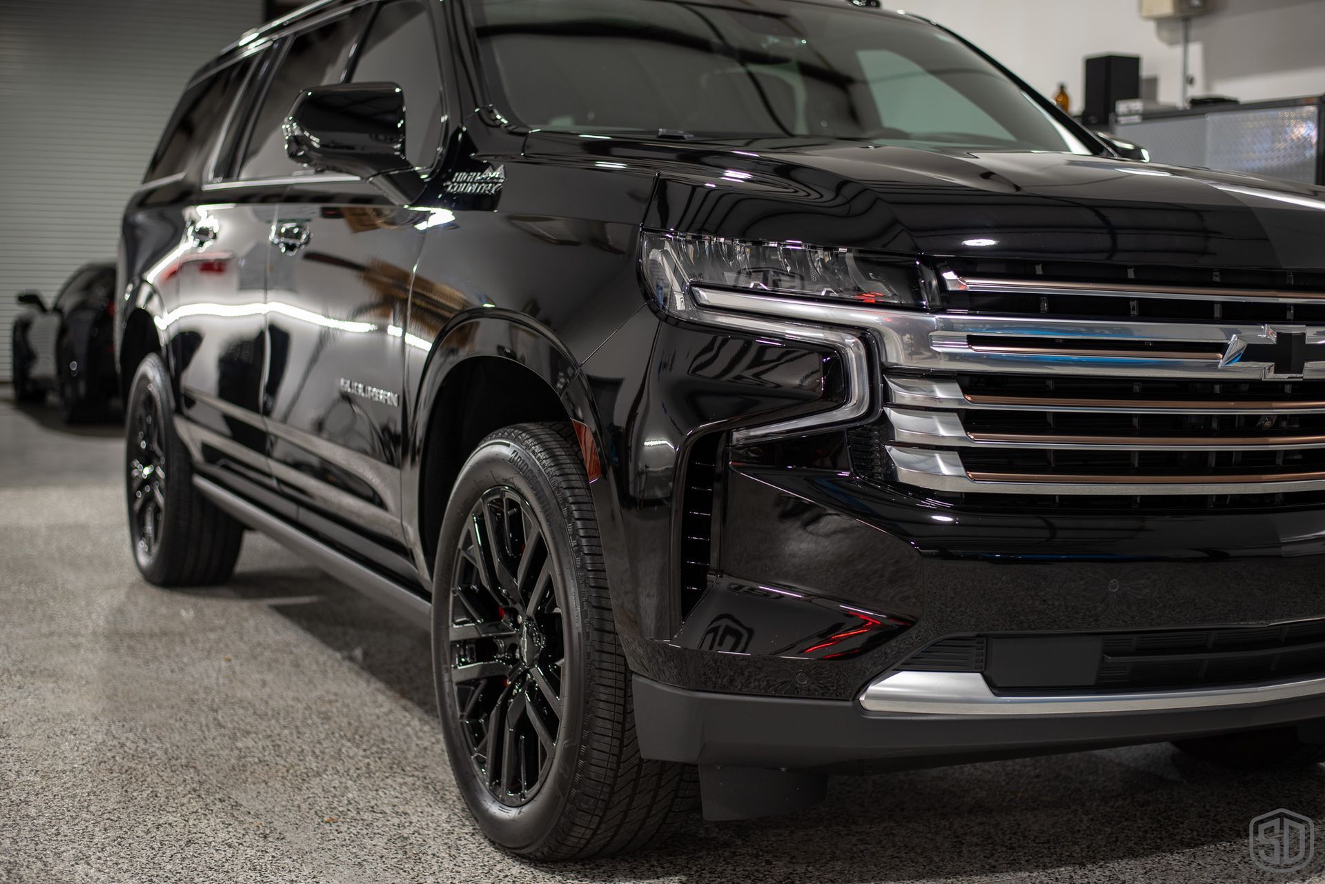
{"type": "Polygon", "coordinates": [[[367,15],[366,8],[359,8],[292,38],[249,124],[248,146],[238,167],[241,180],[278,177],[301,168],[285,155],[281,124],[302,90],[341,82],[350,48],[363,30],[367,15]]]}

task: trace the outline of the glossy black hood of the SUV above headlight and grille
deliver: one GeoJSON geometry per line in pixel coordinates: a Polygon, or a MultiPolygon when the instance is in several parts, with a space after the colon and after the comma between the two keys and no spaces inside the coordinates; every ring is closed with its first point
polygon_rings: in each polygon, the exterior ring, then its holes
{"type": "Polygon", "coordinates": [[[1325,189],[1236,172],[856,142],[530,142],[656,172],[656,229],[973,259],[1325,269],[1325,189]]]}

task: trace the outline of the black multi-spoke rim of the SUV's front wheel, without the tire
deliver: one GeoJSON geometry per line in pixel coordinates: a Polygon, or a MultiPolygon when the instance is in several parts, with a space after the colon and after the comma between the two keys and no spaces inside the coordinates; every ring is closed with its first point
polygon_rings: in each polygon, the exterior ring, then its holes
{"type": "Polygon", "coordinates": [[[518,807],[547,781],[566,680],[566,623],[547,540],[514,488],[485,491],[460,536],[450,590],[452,701],[476,773],[518,807]]]}

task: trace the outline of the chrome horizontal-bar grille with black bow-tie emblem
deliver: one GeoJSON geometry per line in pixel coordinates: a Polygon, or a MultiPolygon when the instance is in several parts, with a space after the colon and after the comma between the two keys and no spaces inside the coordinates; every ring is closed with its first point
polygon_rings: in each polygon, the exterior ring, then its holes
{"type": "Polygon", "coordinates": [[[949,312],[874,323],[886,406],[853,450],[876,478],[967,500],[1325,492],[1325,291],[943,279],[949,312]]]}

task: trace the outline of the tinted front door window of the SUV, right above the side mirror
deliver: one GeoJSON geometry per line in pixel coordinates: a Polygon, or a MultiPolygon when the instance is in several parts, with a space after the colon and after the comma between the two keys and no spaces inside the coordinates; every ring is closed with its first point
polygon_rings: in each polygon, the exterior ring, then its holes
{"type": "Polygon", "coordinates": [[[428,11],[416,0],[387,3],[354,64],[355,83],[395,83],[405,94],[405,151],[431,167],[441,143],[441,74],[428,11]]]}

